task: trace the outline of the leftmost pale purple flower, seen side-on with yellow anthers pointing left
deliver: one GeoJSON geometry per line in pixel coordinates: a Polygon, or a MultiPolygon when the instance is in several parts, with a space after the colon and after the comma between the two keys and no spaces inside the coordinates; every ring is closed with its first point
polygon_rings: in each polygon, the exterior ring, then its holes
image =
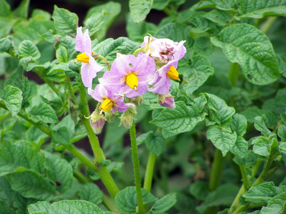
{"type": "Polygon", "coordinates": [[[82,62],[81,75],[82,82],[85,87],[92,87],[92,79],[96,77],[96,73],[101,71],[104,67],[98,65],[91,55],[91,40],[88,36],[88,29],[82,33],[82,27],[77,29],[76,47],[77,51],[82,52],[77,56],[77,60],[82,62]]]}

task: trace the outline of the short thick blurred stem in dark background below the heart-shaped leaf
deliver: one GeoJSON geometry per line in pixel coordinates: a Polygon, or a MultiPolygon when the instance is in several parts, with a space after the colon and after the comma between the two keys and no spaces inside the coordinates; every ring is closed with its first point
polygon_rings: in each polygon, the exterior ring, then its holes
{"type": "Polygon", "coordinates": [[[214,191],[221,182],[221,176],[223,172],[225,157],[221,153],[221,150],[216,148],[214,160],[212,162],[212,170],[210,172],[210,181],[208,189],[214,191]]]}

